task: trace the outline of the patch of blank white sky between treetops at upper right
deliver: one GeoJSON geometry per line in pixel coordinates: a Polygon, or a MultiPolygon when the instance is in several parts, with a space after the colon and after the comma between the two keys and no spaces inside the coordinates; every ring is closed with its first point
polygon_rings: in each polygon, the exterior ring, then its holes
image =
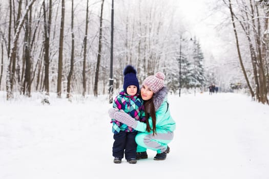
{"type": "MultiPolygon", "coordinates": [[[[212,13],[215,0],[178,0],[178,9],[187,24],[188,31],[200,40],[204,53],[222,56],[223,43],[217,34],[216,26],[222,21],[220,12],[212,13]]],[[[231,27],[232,28],[232,27],[231,27]]],[[[187,34],[188,35],[188,34],[187,34]]]]}

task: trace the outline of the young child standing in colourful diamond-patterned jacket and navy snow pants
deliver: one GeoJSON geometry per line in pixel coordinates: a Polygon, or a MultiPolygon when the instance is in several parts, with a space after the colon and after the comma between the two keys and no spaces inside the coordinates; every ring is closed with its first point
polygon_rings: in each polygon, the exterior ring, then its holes
{"type": "MultiPolygon", "coordinates": [[[[143,100],[138,97],[139,83],[136,77],[136,70],[133,66],[127,65],[123,71],[124,81],[123,90],[116,96],[113,107],[125,111],[134,119],[144,122],[143,100]]],[[[112,132],[114,133],[113,156],[114,163],[120,164],[123,154],[130,164],[136,164],[136,147],[135,136],[137,131],[126,124],[122,124],[115,119],[112,132]]]]}

